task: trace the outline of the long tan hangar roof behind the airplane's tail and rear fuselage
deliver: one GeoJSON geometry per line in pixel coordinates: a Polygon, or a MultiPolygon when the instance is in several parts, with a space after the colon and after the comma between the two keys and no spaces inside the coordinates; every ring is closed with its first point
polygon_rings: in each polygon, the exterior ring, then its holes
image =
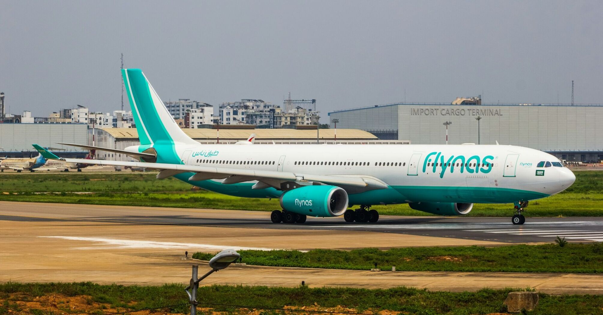
{"type": "MultiPolygon", "coordinates": [[[[115,139],[138,139],[136,128],[103,128],[115,139]]],[[[189,137],[199,139],[215,139],[216,129],[182,129],[189,137]]],[[[256,134],[256,139],[316,139],[315,130],[298,129],[224,129],[220,130],[220,139],[247,139],[251,133],[256,134]]],[[[333,139],[335,130],[321,129],[321,139],[333,139]]],[[[337,129],[337,139],[341,140],[377,140],[370,132],[359,129],[337,129]]]]}

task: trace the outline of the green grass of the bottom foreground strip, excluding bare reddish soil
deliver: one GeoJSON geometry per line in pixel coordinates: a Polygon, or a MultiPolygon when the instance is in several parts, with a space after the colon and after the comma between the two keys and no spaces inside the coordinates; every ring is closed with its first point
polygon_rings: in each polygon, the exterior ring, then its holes
{"type": "MultiPolygon", "coordinates": [[[[89,295],[93,301],[119,307],[122,310],[140,310],[186,303],[184,285],[162,286],[138,285],[98,285],[83,283],[50,284],[0,284],[0,293],[25,293],[30,296],[45,294],[65,294],[67,296],[89,295]],[[128,305],[133,301],[134,304],[128,305]]],[[[359,288],[282,288],[244,287],[212,285],[200,287],[198,307],[213,307],[215,311],[246,313],[238,307],[215,304],[241,305],[249,308],[312,307],[353,308],[359,313],[376,313],[379,310],[400,311],[406,314],[489,314],[505,312],[503,305],[507,294],[516,289],[476,292],[442,292],[418,290],[416,288],[391,288],[387,290],[367,290],[359,288]],[[209,305],[207,303],[212,303],[209,305]]],[[[564,295],[550,296],[540,293],[540,300],[534,311],[527,314],[603,314],[603,296],[564,295]]],[[[9,307],[11,307],[9,302],[9,307]]],[[[14,303],[14,302],[13,302],[14,303]]],[[[166,310],[159,310],[165,312],[166,310]]],[[[172,313],[188,313],[188,306],[171,309],[172,313]]],[[[311,312],[309,312],[311,313],[311,312]]],[[[266,310],[263,314],[283,314],[282,311],[266,310]]],[[[303,314],[303,313],[300,313],[303,314]]]]}

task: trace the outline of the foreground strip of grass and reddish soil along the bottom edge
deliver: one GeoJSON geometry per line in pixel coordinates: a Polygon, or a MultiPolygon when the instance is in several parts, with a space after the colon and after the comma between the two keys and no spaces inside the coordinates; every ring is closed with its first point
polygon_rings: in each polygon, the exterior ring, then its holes
{"type": "MultiPolygon", "coordinates": [[[[4,314],[107,314],[187,302],[184,286],[98,285],[91,283],[0,284],[0,315],[4,314]],[[51,303],[48,297],[54,298],[51,303]],[[58,298],[57,298],[58,297],[58,298]],[[42,301],[41,303],[39,301],[42,301]],[[83,301],[80,302],[80,301],[83,301]],[[75,302],[79,302],[74,305],[75,302]],[[75,307],[75,308],[74,308],[75,307]]],[[[312,311],[377,314],[490,314],[504,313],[507,294],[513,289],[476,292],[440,292],[415,288],[367,290],[356,288],[280,288],[212,285],[200,287],[201,313],[293,314],[270,308],[304,308],[312,311]],[[209,304],[212,303],[212,304],[209,304]],[[247,308],[219,306],[241,305],[247,308]],[[264,309],[262,309],[264,308],[264,309]]],[[[540,293],[534,311],[527,314],[603,314],[603,296],[549,296],[540,293]]],[[[188,305],[161,308],[149,313],[188,313],[188,305]]],[[[295,314],[303,314],[295,312],[295,314]]]]}

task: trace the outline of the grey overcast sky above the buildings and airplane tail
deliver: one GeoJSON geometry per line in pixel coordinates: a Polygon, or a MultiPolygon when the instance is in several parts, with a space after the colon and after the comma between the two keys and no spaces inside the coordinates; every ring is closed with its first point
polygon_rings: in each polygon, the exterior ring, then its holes
{"type": "Polygon", "coordinates": [[[603,1],[0,4],[12,113],[119,109],[121,52],[164,101],[282,104],[291,92],[326,117],[482,92],[486,103],[569,103],[575,80],[576,103],[603,103],[603,1]]]}

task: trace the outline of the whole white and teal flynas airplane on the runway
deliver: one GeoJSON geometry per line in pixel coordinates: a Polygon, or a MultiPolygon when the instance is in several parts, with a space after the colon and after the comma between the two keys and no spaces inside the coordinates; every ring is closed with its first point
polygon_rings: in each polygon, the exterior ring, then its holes
{"type": "Polygon", "coordinates": [[[464,215],[473,203],[514,203],[513,224],[523,224],[529,200],[560,193],[576,179],[551,154],[513,145],[199,144],[178,127],[140,69],[122,75],[140,145],[94,148],[140,162],[61,159],[34,147],[46,159],[154,168],[157,179],[174,176],[221,194],[279,198],[274,223],[303,223],[307,215],[376,222],[373,205],[408,203],[432,214],[464,215]],[[359,208],[348,209],[354,205],[359,208]]]}

